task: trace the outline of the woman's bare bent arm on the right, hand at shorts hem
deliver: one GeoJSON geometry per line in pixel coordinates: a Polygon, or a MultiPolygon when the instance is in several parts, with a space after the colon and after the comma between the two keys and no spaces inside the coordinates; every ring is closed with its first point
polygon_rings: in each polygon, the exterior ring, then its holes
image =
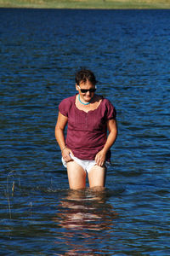
{"type": "Polygon", "coordinates": [[[105,157],[107,151],[115,143],[117,137],[117,124],[116,119],[111,119],[107,121],[107,129],[109,131],[109,136],[107,137],[105,146],[102,150],[98,152],[95,156],[95,161],[98,166],[103,166],[105,163],[105,157]]]}

